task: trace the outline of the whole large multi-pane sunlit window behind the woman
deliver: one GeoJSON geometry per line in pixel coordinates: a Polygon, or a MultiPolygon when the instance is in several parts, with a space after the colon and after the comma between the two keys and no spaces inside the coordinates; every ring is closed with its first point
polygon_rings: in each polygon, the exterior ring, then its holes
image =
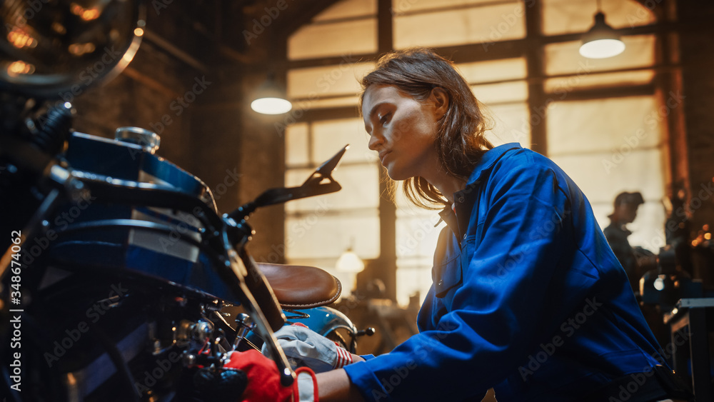
{"type": "MultiPolygon", "coordinates": [[[[393,256],[401,304],[431,285],[438,216],[401,196],[396,213],[381,211],[383,173],[356,108],[357,79],[381,52],[410,46],[454,59],[493,116],[489,139],[519,142],[553,159],[583,189],[601,226],[609,223],[616,194],[642,192],[646,202],[630,239],[658,251],[669,169],[654,34],[625,35],[623,54],[591,60],[578,54],[572,34],[593,24],[595,1],[393,0],[390,7],[384,1],[338,1],[288,40],[288,96],[301,112],[286,129],[286,183],[298,184],[340,146],[353,146],[335,175],[343,191],[286,204],[288,262],[320,266],[351,283],[334,268],[351,247],[364,259],[393,256]],[[380,241],[384,225],[394,228],[395,241],[380,241]]],[[[655,21],[637,1],[601,4],[616,29],[655,21]]]]}

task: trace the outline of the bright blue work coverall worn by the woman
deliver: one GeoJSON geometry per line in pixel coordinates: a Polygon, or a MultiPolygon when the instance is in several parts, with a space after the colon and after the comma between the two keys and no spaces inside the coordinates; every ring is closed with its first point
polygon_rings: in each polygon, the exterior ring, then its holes
{"type": "Polygon", "coordinates": [[[345,368],[363,397],[481,401],[493,387],[499,402],[609,402],[638,393],[664,353],[563,170],[518,144],[498,146],[454,200],[456,214],[441,212],[448,226],[420,333],[345,368]]]}

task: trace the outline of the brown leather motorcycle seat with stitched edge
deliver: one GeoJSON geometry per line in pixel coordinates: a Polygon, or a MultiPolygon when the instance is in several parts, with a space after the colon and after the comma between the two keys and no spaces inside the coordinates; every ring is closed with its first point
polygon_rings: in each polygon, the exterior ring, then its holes
{"type": "Polygon", "coordinates": [[[333,303],[342,283],[314,266],[258,263],[282,308],[313,308],[333,303]]]}

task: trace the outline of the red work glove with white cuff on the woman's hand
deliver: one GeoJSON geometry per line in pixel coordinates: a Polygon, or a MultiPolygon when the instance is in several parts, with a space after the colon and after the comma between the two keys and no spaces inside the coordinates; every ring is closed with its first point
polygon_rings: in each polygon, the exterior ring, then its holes
{"type": "Polygon", "coordinates": [[[248,385],[240,401],[318,402],[317,380],[309,368],[298,368],[298,378],[289,387],[281,385],[276,363],[258,351],[233,352],[223,368],[246,373],[248,385]]]}

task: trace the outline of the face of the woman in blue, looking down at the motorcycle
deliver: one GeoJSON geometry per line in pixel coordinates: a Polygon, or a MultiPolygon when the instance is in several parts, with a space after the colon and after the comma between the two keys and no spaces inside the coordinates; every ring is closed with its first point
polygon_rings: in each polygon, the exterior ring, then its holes
{"type": "Polygon", "coordinates": [[[368,146],[378,152],[391,179],[430,180],[438,171],[434,141],[443,111],[437,98],[432,91],[426,101],[416,101],[392,85],[372,85],[365,91],[362,115],[368,146]]]}

